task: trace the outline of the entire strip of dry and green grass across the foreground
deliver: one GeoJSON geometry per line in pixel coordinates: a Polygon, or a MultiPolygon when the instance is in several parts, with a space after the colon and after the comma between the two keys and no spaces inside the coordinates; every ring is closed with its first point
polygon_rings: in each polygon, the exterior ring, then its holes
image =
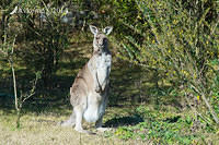
{"type": "Polygon", "coordinates": [[[212,144],[219,143],[219,131],[195,120],[189,109],[177,110],[172,106],[131,106],[124,104],[108,107],[104,125],[113,130],[99,133],[94,124],[83,123],[95,135],[80,134],[72,128],[57,123],[68,119],[69,106],[35,109],[26,106],[21,118],[21,128],[15,128],[13,109],[0,109],[0,144],[2,145],[124,145],[124,144],[212,144]]]}

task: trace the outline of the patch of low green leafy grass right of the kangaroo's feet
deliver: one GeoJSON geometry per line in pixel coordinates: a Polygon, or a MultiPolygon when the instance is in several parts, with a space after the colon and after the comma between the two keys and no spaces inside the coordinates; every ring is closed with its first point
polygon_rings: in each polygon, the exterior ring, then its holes
{"type": "Polygon", "coordinates": [[[177,111],[173,107],[163,106],[159,110],[140,106],[136,113],[143,122],[136,125],[120,126],[115,134],[123,140],[151,141],[153,144],[218,144],[218,130],[194,118],[192,111],[177,111]],[[166,108],[170,108],[166,110],[166,108]]]}

